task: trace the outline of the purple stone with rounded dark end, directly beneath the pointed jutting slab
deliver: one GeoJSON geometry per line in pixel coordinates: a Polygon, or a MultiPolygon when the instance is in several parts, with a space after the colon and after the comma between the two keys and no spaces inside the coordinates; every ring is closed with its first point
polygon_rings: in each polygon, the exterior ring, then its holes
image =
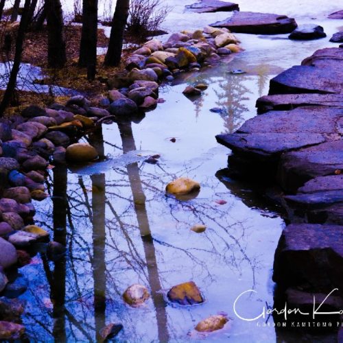
{"type": "Polygon", "coordinates": [[[338,170],[343,170],[342,140],[283,154],[278,179],[285,191],[295,193],[311,178],[335,175],[338,170]]]}

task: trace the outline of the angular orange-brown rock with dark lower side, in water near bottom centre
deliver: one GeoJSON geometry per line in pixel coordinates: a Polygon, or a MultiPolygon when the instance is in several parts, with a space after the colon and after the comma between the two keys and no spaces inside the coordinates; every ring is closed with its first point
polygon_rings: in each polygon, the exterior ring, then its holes
{"type": "Polygon", "coordinates": [[[196,283],[193,281],[171,287],[167,296],[171,303],[178,303],[180,305],[204,303],[204,298],[202,297],[196,283]]]}

